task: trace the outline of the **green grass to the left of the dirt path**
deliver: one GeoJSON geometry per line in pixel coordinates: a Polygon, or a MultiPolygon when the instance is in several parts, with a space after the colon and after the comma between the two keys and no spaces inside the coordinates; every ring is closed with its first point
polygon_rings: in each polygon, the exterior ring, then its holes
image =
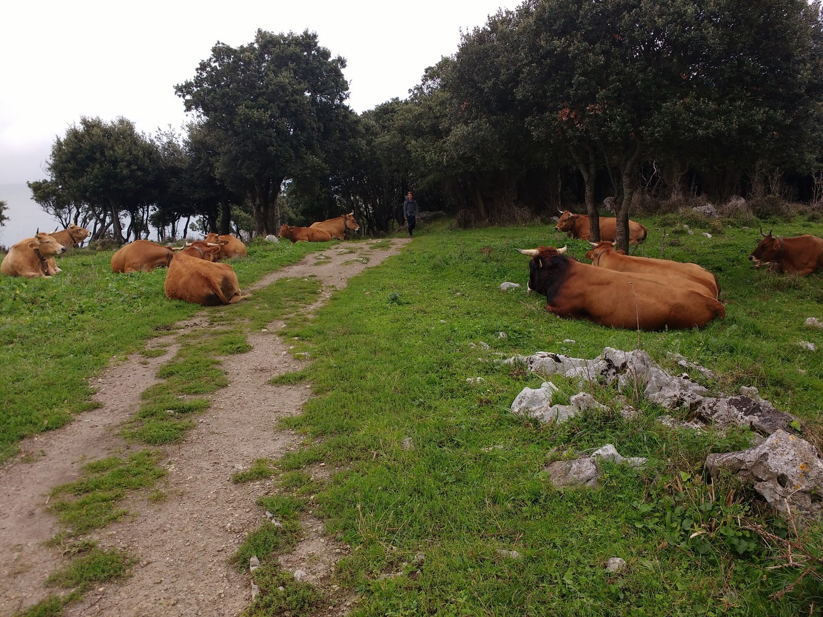
{"type": "MultiPolygon", "coordinates": [[[[241,286],[306,254],[310,243],[249,244],[249,257],[232,262],[241,286]]],[[[52,279],[0,276],[0,462],[26,436],[56,429],[94,406],[88,379],[115,355],[126,355],[174,322],[203,310],[166,299],[165,269],[114,274],[112,252],[73,252],[59,259],[52,279]]],[[[244,304],[254,304],[255,298],[244,304]]],[[[236,305],[239,306],[239,305],[236,305]]],[[[209,313],[221,308],[207,309],[209,313]]],[[[148,353],[154,354],[153,350],[148,353]]]]}

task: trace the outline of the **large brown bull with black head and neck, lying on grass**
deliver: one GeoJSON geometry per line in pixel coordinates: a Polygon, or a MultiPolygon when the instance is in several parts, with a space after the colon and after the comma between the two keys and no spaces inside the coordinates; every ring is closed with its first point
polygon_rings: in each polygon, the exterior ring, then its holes
{"type": "Polygon", "coordinates": [[[703,327],[726,316],[723,304],[708,295],[576,262],[566,257],[566,247],[517,250],[532,257],[528,290],[545,295],[546,310],[561,318],[662,330],[703,327]]]}

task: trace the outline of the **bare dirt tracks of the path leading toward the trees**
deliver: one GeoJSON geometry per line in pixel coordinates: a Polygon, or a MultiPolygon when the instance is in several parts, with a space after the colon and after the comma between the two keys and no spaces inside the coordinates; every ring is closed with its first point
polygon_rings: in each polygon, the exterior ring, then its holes
{"type": "MultiPolygon", "coordinates": [[[[351,276],[398,253],[407,243],[393,239],[390,248],[373,243],[338,244],[313,253],[302,262],[272,272],[251,290],[277,279],[318,276],[323,283],[319,300],[304,309],[309,314],[351,276]],[[350,253],[353,249],[355,253],[350,253]],[[328,262],[315,265],[319,259],[328,262]],[[368,257],[368,259],[361,258],[368,257]]],[[[185,329],[209,327],[205,316],[179,324],[185,329]]],[[[296,448],[299,438],[277,429],[277,420],[300,413],[309,397],[304,384],[275,387],[273,376],[300,368],[288,354],[288,344],[270,333],[249,335],[253,349],[222,361],[230,385],[212,397],[212,406],[182,443],[164,448],[169,476],[162,488],[168,499],[151,504],[135,498],[124,517],[95,535],[104,547],[119,546],[137,560],[133,576],[122,585],[100,587],[67,606],[64,615],[236,615],[249,604],[249,578],[226,563],[235,545],[265,520],[254,505],[267,494],[268,482],[235,485],[230,476],[255,458],[279,458],[296,448]]],[[[175,331],[175,335],[177,332],[175,331]]],[[[170,339],[155,339],[151,346],[170,339]]],[[[156,369],[175,348],[160,358],[134,354],[97,380],[95,398],[103,406],[77,417],[72,424],[21,443],[21,455],[0,470],[0,615],[40,601],[49,594],[45,578],[61,564],[58,550],[40,545],[58,526],[46,505],[53,486],[74,480],[86,460],[142,449],[119,437],[119,424],[139,406],[140,393],[156,383],[156,369]]],[[[320,471],[319,471],[320,472],[320,471]]],[[[322,537],[322,524],[307,517],[305,540],[282,559],[284,566],[302,568],[308,580],[328,581],[342,551],[322,537]]],[[[340,614],[339,610],[330,614],[340,614]]]]}

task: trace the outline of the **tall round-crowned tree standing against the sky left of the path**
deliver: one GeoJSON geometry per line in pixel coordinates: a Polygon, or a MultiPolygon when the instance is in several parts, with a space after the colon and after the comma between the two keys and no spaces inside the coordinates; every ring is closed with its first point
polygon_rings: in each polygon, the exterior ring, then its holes
{"type": "Polygon", "coordinates": [[[346,61],[308,30],[258,30],[238,48],[218,42],[195,77],[175,90],[217,136],[216,176],[248,193],[258,234],[280,224],[277,197],[300,165],[322,156],[330,124],[345,111],[346,61]]]}

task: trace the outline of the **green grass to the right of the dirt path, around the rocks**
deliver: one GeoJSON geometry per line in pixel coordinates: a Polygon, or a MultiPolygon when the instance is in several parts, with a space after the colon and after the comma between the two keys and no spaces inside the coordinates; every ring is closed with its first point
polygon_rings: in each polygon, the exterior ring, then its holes
{"type": "MultiPolygon", "coordinates": [[[[639,254],[661,257],[660,230],[678,221],[640,220],[650,234],[639,254]]],[[[350,281],[313,322],[286,328],[283,336],[299,336],[300,350],[316,359],[311,380],[319,396],[304,415],[283,421],[312,444],[280,466],[299,471],[322,461],[342,470],[316,488],[314,514],[358,548],[337,573],[362,598],[352,615],[805,615],[811,602],[820,604],[811,577],[770,600],[801,570],[766,570],[779,555],[737,522],[761,520],[751,493],[718,484],[723,494],[715,499],[702,480],[706,454],[746,448],[749,431],[666,429],[655,419],[669,412],[631,393],[640,415],[629,422],[615,411],[618,393],[597,385],[588,389],[609,410],[561,427],[509,412],[516,394],[542,378],[494,360],[536,350],[592,358],[604,346],[639,342],[666,366],[672,351],[714,370],[709,385],[717,391],[757,386],[779,408],[820,419],[823,360],[797,346],[823,344],[823,332],[803,325],[821,317],[820,278],[751,270],[754,229],[714,224],[706,239],[690,225],[695,236],[672,234],[679,242],[667,242],[664,257],[714,271],[728,311],[700,331],[638,335],[546,313],[545,299],[525,293],[528,258],[514,248],[568,242],[582,259],[588,245],[538,225],[448,233],[432,225],[402,257],[350,281]],[[500,292],[503,281],[523,287],[500,292]],[[491,349],[470,346],[481,341],[491,349]],[[477,377],[484,381],[466,381],[477,377]],[[413,449],[402,448],[406,437],[413,449]],[[553,448],[581,452],[604,443],[649,457],[649,465],[604,465],[602,488],[593,491],[547,485],[542,469],[553,448]],[[709,533],[688,537],[707,525],[709,533]],[[498,549],[523,557],[504,558],[498,549]],[[380,578],[420,550],[419,577],[380,578]],[[605,573],[612,556],[628,568],[605,573]]],[[[823,225],[775,231],[823,234],[823,225]]],[[[553,381],[565,397],[578,391],[553,381]]]]}

